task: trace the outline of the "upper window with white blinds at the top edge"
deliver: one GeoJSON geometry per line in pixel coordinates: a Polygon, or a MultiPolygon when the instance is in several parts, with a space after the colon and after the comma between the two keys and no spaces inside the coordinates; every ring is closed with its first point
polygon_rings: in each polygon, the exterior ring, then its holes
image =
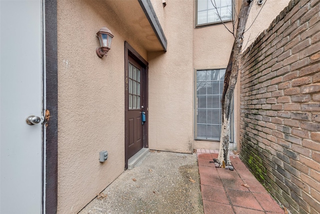
{"type": "Polygon", "coordinates": [[[232,0],[197,0],[196,25],[232,20],[232,0]]]}

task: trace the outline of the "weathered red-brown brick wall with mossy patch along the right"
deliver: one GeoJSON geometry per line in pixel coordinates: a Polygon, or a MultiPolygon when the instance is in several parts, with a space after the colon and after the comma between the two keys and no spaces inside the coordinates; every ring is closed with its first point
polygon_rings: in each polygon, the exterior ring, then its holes
{"type": "Polygon", "coordinates": [[[319,9],[291,1],[242,55],[240,157],[292,213],[320,213],[319,9]]]}

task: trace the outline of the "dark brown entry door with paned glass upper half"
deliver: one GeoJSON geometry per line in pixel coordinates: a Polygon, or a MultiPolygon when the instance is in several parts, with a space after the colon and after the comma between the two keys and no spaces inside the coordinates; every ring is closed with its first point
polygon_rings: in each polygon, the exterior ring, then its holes
{"type": "Polygon", "coordinates": [[[129,54],[125,69],[125,167],[127,160],[147,147],[146,65],[129,54]]]}

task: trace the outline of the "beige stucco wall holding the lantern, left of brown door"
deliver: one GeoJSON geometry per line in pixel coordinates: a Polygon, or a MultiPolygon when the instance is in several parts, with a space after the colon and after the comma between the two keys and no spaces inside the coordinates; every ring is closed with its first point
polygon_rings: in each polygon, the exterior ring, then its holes
{"type": "Polygon", "coordinates": [[[57,31],[58,212],[75,213],[123,172],[124,41],[145,59],[146,51],[104,1],[58,1],[57,31]],[[114,38],[100,59],[104,26],[114,38]]]}

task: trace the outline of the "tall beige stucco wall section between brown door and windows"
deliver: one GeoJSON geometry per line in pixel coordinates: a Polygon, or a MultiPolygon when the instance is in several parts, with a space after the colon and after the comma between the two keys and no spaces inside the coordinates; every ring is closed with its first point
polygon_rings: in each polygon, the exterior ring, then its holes
{"type": "Polygon", "coordinates": [[[168,40],[167,52],[148,53],[149,148],[192,151],[192,1],[152,1],[168,40]]]}

